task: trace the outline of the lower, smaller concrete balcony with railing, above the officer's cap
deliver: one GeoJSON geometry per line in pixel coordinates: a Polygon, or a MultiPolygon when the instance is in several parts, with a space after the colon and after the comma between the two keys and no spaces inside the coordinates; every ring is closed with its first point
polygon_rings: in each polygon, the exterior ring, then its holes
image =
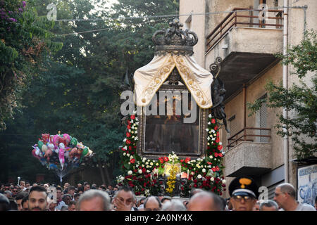
{"type": "Polygon", "coordinates": [[[271,129],[245,127],[228,139],[225,176],[259,176],[271,170],[271,129]]]}

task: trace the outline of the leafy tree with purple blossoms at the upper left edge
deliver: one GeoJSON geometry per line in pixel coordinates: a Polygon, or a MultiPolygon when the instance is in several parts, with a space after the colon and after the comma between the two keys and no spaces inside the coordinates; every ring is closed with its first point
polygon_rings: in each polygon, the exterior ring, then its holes
{"type": "Polygon", "coordinates": [[[47,54],[62,46],[51,41],[54,22],[38,16],[28,2],[30,6],[25,1],[0,1],[0,130],[13,117],[25,81],[37,75],[47,54]]]}

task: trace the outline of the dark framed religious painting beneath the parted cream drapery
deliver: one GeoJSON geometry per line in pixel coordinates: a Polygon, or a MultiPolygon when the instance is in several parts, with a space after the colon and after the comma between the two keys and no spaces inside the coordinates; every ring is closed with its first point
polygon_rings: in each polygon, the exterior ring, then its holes
{"type": "Polygon", "coordinates": [[[199,155],[199,107],[185,86],[161,87],[147,106],[144,154],[199,155]]]}

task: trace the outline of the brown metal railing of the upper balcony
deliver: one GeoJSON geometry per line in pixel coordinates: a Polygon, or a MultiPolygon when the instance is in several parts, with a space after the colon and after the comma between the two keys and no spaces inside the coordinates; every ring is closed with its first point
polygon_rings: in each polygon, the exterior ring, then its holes
{"type": "Polygon", "coordinates": [[[254,18],[259,18],[258,15],[254,15],[254,12],[261,12],[262,9],[251,9],[251,8],[233,8],[230,13],[213,29],[213,31],[206,37],[206,52],[209,52],[211,48],[233,27],[237,25],[249,25],[249,26],[259,26],[264,28],[266,26],[276,27],[278,29],[282,28],[281,20],[282,10],[267,10],[267,12],[275,12],[277,15],[275,17],[266,17],[268,19],[276,20],[276,23],[265,23],[263,20],[259,20],[259,23],[254,23],[254,18]],[[249,15],[241,15],[241,13],[249,12],[249,15]],[[248,22],[241,21],[241,18],[249,18],[248,22]]]}

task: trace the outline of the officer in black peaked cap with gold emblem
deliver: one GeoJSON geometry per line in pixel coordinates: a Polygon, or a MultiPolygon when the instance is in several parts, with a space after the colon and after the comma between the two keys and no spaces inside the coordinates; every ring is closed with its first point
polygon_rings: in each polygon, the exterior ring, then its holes
{"type": "Polygon", "coordinates": [[[251,177],[235,178],[229,186],[230,203],[234,211],[252,211],[259,198],[259,186],[251,177]]]}

